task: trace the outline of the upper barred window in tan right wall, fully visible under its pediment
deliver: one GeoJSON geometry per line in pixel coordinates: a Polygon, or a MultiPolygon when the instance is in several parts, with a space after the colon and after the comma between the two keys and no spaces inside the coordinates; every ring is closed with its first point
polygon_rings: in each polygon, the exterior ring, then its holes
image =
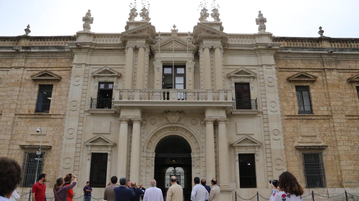
{"type": "Polygon", "coordinates": [[[298,100],[299,114],[312,114],[311,96],[309,93],[309,86],[295,86],[298,100]]]}

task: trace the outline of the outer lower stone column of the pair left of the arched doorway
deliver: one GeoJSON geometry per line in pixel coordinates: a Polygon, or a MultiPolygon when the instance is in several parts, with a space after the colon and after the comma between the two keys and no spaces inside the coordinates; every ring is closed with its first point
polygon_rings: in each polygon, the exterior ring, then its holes
{"type": "Polygon", "coordinates": [[[118,136],[117,152],[117,176],[126,177],[127,175],[127,141],[129,119],[118,119],[120,121],[120,134],[118,136]]]}

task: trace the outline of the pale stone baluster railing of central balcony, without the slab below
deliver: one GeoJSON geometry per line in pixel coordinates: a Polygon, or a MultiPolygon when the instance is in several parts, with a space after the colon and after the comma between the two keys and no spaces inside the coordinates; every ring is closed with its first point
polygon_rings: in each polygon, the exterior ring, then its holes
{"type": "Polygon", "coordinates": [[[115,101],[230,101],[231,90],[115,90],[115,101]]]}

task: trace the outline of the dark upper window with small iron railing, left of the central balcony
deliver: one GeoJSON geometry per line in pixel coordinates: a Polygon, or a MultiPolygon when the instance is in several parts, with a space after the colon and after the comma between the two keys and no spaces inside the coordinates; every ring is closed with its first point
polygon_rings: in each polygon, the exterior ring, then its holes
{"type": "Polygon", "coordinates": [[[112,109],[113,82],[98,83],[97,99],[91,97],[90,109],[112,109]]]}

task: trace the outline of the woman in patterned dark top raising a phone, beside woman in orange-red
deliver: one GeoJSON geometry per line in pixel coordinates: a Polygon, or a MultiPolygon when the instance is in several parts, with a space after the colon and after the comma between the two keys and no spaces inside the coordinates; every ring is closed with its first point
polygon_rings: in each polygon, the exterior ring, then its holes
{"type": "Polygon", "coordinates": [[[74,174],[66,174],[63,178],[56,179],[55,186],[53,187],[53,195],[55,197],[55,201],[67,201],[67,191],[76,186],[77,177],[74,174]],[[72,182],[69,186],[65,186],[65,179],[67,176],[74,178],[74,182],[72,182]]]}

